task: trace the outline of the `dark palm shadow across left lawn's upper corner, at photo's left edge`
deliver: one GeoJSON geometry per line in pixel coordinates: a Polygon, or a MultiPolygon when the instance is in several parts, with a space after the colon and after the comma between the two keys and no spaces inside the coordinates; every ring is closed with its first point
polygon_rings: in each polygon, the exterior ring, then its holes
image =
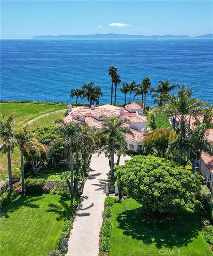
{"type": "Polygon", "coordinates": [[[18,199],[15,199],[12,202],[7,203],[1,210],[1,217],[2,218],[9,218],[10,216],[8,215],[9,213],[12,213],[19,209],[20,207],[29,207],[29,208],[39,208],[38,204],[35,204],[36,201],[42,199],[40,197],[42,194],[39,195],[21,195],[18,199]],[[33,196],[33,198],[30,198],[33,196]],[[38,196],[37,198],[35,198],[38,196]]]}

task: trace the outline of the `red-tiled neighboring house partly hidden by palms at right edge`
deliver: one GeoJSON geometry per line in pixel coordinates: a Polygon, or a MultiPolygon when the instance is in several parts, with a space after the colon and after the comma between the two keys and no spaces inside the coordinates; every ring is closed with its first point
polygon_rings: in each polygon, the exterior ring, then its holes
{"type": "MultiPolygon", "coordinates": [[[[203,116],[198,117],[200,122],[203,121],[203,116]]],[[[195,119],[193,117],[190,118],[190,126],[193,126],[195,119]]],[[[213,122],[213,120],[212,120],[213,122]]],[[[173,127],[179,126],[180,120],[179,118],[172,118],[173,127]]],[[[186,123],[189,124],[189,116],[186,117],[186,123]]],[[[208,131],[206,138],[213,143],[213,129],[208,131]]],[[[201,159],[199,160],[199,171],[204,178],[207,179],[207,186],[210,191],[213,193],[213,157],[209,157],[204,152],[201,153],[201,159]]]]}

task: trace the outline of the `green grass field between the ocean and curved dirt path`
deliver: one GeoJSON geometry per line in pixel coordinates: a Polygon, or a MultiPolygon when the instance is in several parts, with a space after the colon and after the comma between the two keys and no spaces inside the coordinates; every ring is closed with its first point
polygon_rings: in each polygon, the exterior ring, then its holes
{"type": "Polygon", "coordinates": [[[36,103],[1,103],[0,111],[4,117],[13,113],[16,120],[16,127],[24,125],[28,121],[42,114],[51,113],[57,110],[64,110],[65,106],[45,105],[36,103]]]}

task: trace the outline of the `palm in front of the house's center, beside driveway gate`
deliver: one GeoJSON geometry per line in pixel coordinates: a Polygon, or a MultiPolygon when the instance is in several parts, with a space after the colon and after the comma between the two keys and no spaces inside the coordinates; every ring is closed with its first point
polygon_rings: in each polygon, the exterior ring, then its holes
{"type": "Polygon", "coordinates": [[[132,134],[129,127],[122,126],[122,122],[129,122],[127,118],[106,118],[103,121],[103,128],[99,130],[99,134],[106,137],[107,144],[110,145],[110,175],[113,179],[114,175],[114,146],[124,141],[124,134],[132,134]]]}

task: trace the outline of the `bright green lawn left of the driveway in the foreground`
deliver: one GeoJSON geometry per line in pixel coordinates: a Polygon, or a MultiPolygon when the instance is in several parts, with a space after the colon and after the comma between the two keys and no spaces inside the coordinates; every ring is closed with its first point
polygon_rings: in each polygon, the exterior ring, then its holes
{"type": "Polygon", "coordinates": [[[1,210],[1,256],[46,256],[68,206],[59,195],[24,195],[1,210]]]}

